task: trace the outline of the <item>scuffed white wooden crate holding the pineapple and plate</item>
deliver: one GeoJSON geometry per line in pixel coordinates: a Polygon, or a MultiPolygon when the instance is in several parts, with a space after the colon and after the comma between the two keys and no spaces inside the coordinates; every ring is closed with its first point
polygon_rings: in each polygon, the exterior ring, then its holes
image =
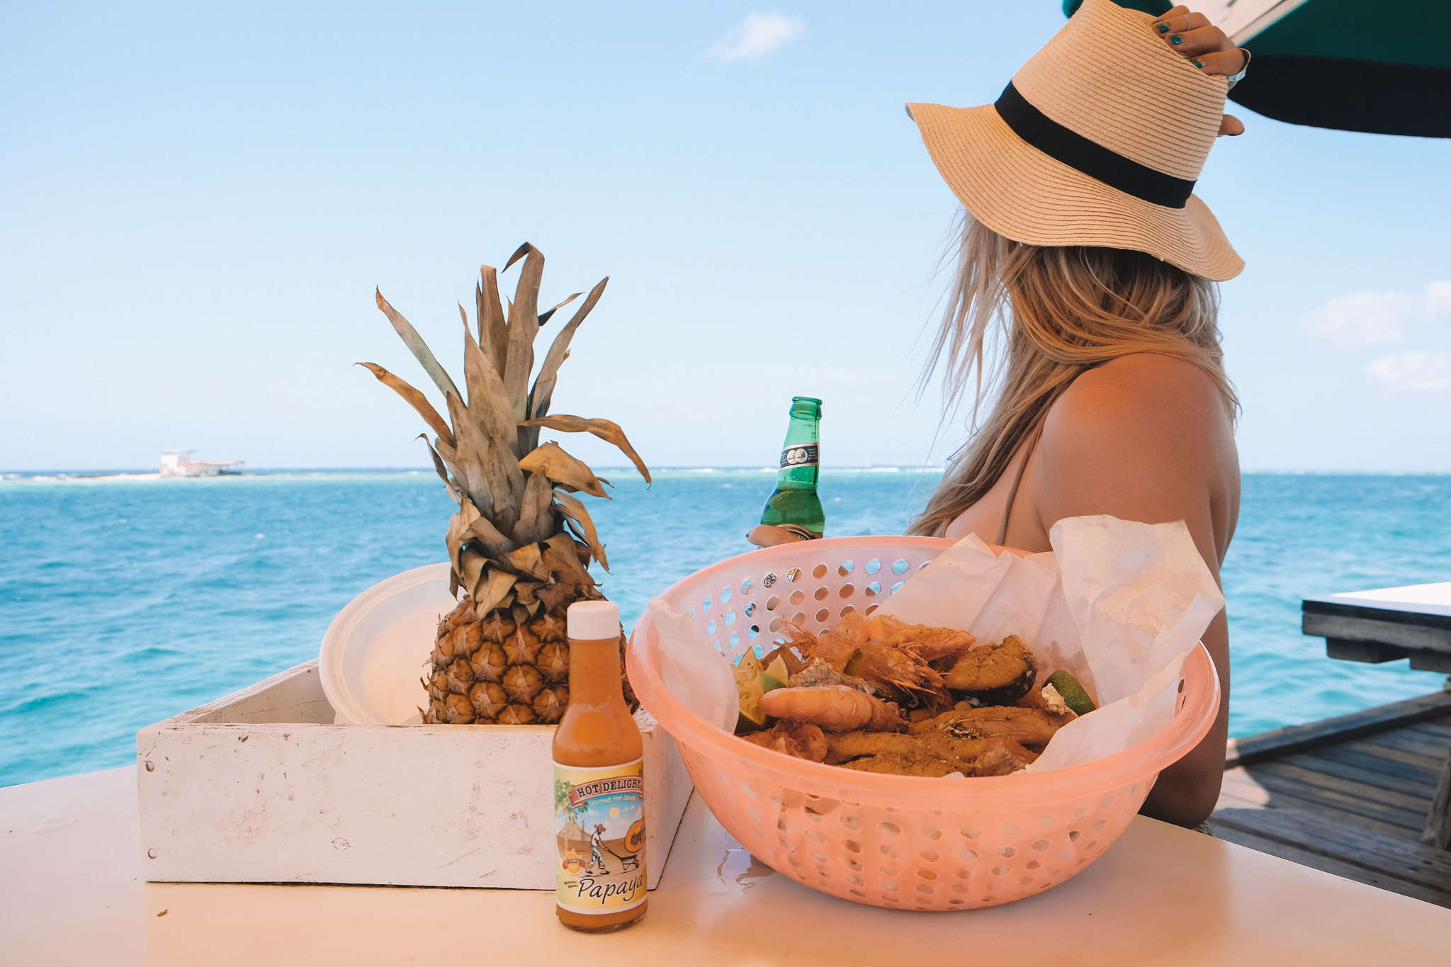
{"type": "MultiPolygon", "coordinates": [[[[147,879],[554,889],[551,725],[334,725],[318,663],[136,735],[147,879]]],[[[654,889],[691,794],[646,712],[654,889]]]]}

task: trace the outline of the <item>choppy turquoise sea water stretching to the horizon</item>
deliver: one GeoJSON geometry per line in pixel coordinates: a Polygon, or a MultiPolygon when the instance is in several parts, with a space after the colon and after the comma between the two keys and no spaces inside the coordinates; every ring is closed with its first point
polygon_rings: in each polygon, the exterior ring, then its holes
{"type": "MultiPolygon", "coordinates": [[[[630,626],[679,577],[749,549],[773,471],[607,473],[593,502],[630,626]]],[[[823,471],[827,532],[894,534],[932,471],[823,471]]],[[[1307,594],[1451,577],[1451,477],[1248,474],[1225,565],[1233,700],[1249,735],[1441,687],[1325,658],[1307,594]]],[[[0,784],[123,765],[144,725],[316,655],[354,594],[443,560],[431,471],[212,480],[0,478],[0,784]]]]}

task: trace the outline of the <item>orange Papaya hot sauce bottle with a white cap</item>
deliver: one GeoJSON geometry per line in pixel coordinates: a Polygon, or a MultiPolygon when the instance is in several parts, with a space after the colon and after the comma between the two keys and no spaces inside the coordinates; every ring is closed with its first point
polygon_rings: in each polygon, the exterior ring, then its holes
{"type": "Polygon", "coordinates": [[[620,686],[620,607],[566,612],[569,707],[554,732],[554,905],[577,931],[644,916],[644,771],[640,729],[620,686]]]}

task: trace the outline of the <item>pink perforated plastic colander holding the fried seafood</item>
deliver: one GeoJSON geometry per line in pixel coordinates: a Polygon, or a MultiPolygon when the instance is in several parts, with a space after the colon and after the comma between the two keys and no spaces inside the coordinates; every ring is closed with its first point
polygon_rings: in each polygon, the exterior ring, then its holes
{"type": "MultiPolygon", "coordinates": [[[[871,613],[952,545],[940,538],[827,538],[753,551],[662,597],[734,660],[784,622],[811,631],[871,613]]],[[[1048,773],[916,779],[791,758],[723,732],[665,687],[649,612],[628,648],[640,702],[675,736],[701,799],[753,855],[858,903],[966,910],[1069,879],[1125,831],[1159,770],[1204,736],[1219,678],[1203,645],[1184,663],[1172,723],[1116,755],[1048,773]]]]}

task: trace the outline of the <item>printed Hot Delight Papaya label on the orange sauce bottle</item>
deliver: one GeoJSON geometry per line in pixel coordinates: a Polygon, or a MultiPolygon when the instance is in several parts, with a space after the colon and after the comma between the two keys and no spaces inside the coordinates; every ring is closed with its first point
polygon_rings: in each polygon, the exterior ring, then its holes
{"type": "Polygon", "coordinates": [[[554,763],[554,896],[566,910],[614,913],[644,902],[643,765],[554,763]]]}

